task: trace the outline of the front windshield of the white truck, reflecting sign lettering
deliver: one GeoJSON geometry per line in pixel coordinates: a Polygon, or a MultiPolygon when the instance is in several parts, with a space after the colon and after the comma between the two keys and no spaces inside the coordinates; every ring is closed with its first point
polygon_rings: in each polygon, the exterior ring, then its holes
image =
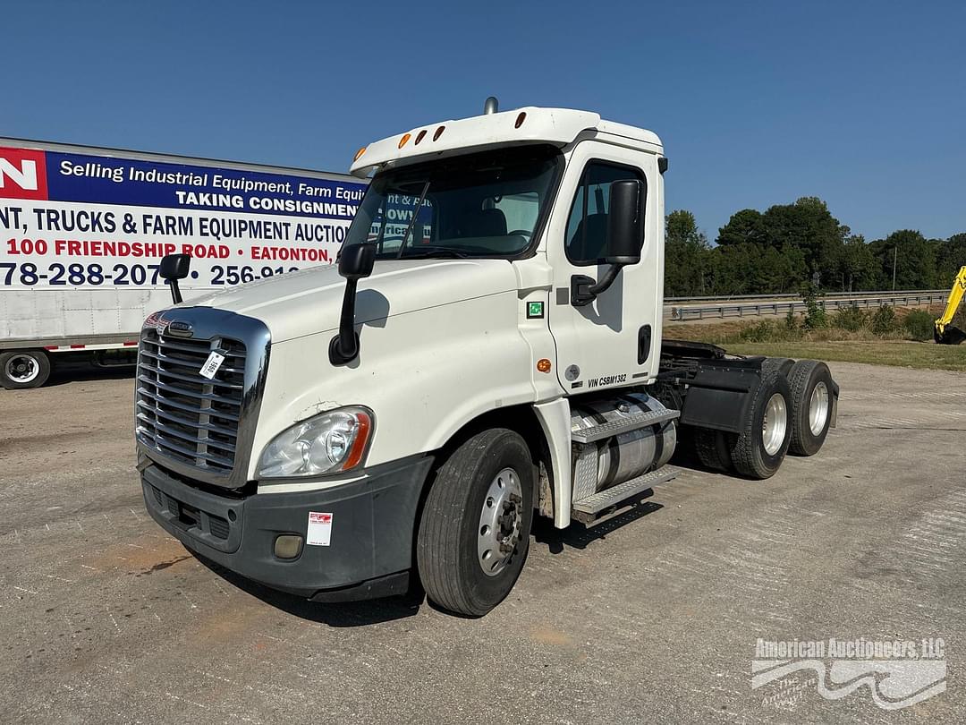
{"type": "Polygon", "coordinates": [[[389,169],[372,180],[345,244],[380,259],[513,257],[547,213],[563,157],[517,146],[389,169]]]}

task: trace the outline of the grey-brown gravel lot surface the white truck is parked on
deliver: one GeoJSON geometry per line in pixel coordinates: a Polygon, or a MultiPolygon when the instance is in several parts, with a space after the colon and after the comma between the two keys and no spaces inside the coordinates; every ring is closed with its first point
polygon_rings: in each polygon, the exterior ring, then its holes
{"type": "Polygon", "coordinates": [[[480,620],[213,570],[144,511],[128,375],[0,391],[0,722],[961,723],[966,378],[833,372],[818,456],[541,526],[480,620]],[[753,690],[759,637],[942,637],[948,689],[895,712],[809,672],[753,690]]]}

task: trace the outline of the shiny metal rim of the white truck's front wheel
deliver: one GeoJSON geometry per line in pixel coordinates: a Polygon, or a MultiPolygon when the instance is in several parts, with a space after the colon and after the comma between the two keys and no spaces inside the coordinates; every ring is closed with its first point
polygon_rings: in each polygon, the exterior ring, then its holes
{"type": "Polygon", "coordinates": [[[517,551],[523,503],[520,476],[512,468],[504,468],[487,489],[476,530],[477,561],[487,576],[497,576],[517,551]]]}

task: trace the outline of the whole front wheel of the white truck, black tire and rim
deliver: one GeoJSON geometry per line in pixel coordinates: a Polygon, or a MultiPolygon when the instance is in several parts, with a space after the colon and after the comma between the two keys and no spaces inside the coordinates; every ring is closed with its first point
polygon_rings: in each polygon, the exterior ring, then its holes
{"type": "Polygon", "coordinates": [[[480,617],[510,593],[533,520],[533,462],[512,430],[477,433],[440,466],[419,522],[416,565],[441,607],[480,617]]]}

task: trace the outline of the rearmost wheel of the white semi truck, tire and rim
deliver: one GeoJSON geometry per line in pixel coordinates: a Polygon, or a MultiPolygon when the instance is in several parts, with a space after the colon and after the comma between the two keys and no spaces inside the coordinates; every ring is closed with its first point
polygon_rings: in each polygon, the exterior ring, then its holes
{"type": "Polygon", "coordinates": [[[822,448],[832,422],[835,383],[829,366],[817,360],[796,362],[788,374],[791,386],[791,446],[796,455],[822,448]]]}

